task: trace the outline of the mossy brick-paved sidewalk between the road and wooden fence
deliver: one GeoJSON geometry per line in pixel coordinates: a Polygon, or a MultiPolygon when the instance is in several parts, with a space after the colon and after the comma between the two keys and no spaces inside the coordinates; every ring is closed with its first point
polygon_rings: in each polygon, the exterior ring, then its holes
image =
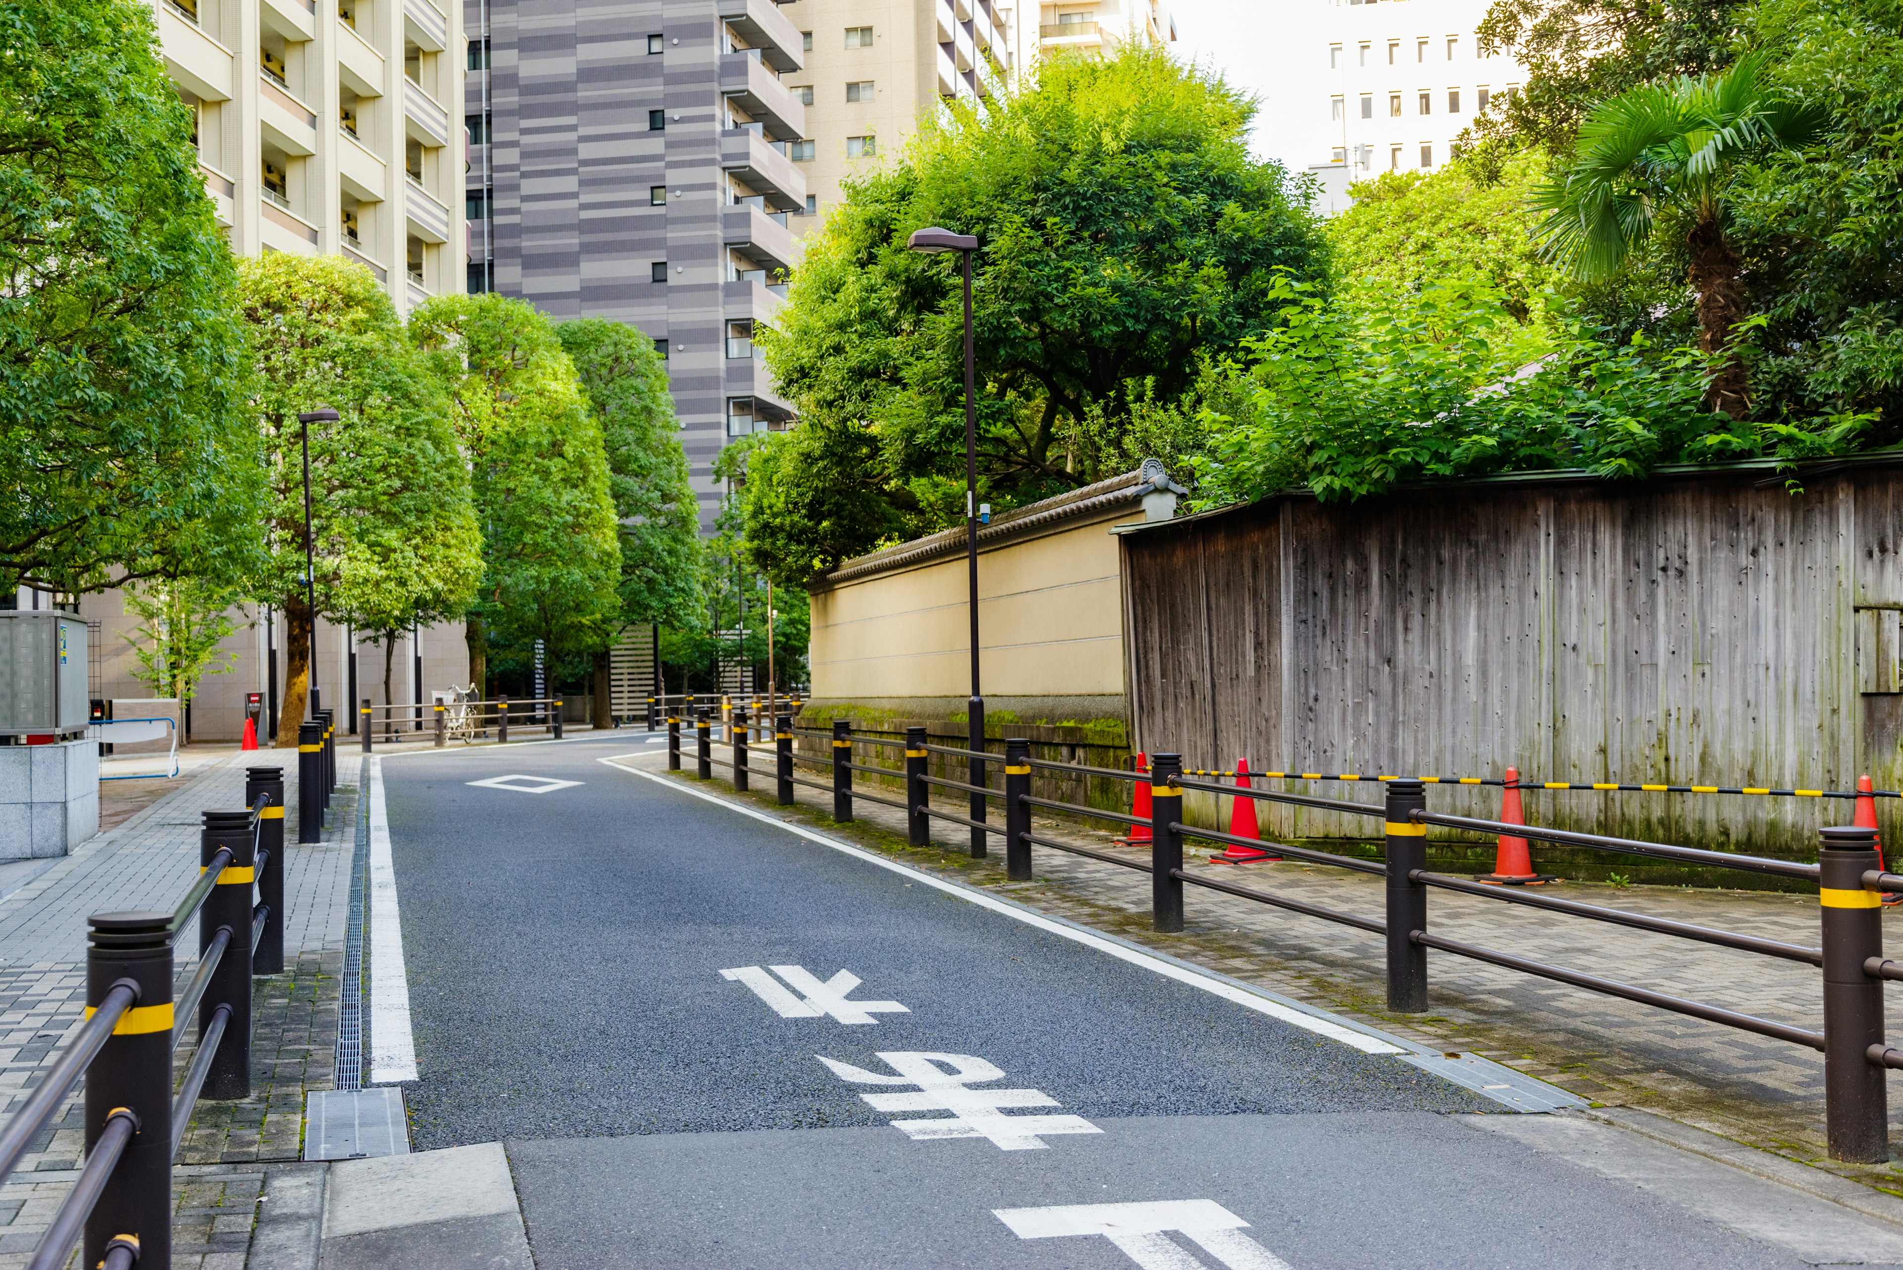
{"type": "MultiPolygon", "coordinates": [[[[641,754],[658,769],[662,754],[641,754]]],[[[670,773],[695,783],[687,773],[670,773]]],[[[729,790],[716,767],[717,790],[729,790]]],[[[813,779],[813,771],[803,771],[813,779]]],[[[746,798],[773,804],[765,794],[746,798]]],[[[991,859],[965,855],[967,830],[934,823],[934,847],[906,845],[904,817],[868,800],[854,804],[856,824],[832,826],[832,798],[795,786],[803,819],[872,845],[908,864],[980,885],[1054,916],[1111,931],[1237,979],[1340,1011],[1446,1053],[1479,1053],[1606,1106],[1637,1106],[1701,1129],[1829,1167],[1846,1177],[1903,1190],[1903,1167],[1838,1165],[1825,1160],[1823,1055],[1684,1015],[1599,996],[1484,962],[1431,952],[1425,1015],[1385,1009],[1383,941],[1355,927],[1269,904],[1187,887],[1187,929],[1149,929],[1148,874],[1033,849],[1033,880],[1009,882],[1003,842],[991,859]]],[[[879,790],[891,796],[894,790],[879,790]]],[[[938,800],[934,800],[938,805],[938,800]]],[[[965,796],[942,800],[965,813],[965,796]]],[[[993,815],[1001,821],[1003,809],[993,815]]],[[[1039,815],[1041,838],[1075,842],[1148,863],[1146,851],[1117,847],[1108,832],[1060,824],[1039,815]]],[[[1340,912],[1382,918],[1383,880],[1321,864],[1210,864],[1220,843],[1191,843],[1193,872],[1288,895],[1340,912]]],[[[1673,918],[1785,943],[1819,943],[1817,901],[1766,891],[1625,887],[1560,883],[1547,893],[1673,918]]],[[[1429,891],[1429,929],[1486,948],[1578,969],[1673,996],[1823,1030],[1821,979],[1810,965],[1711,944],[1652,935],[1604,922],[1547,914],[1517,904],[1429,891]]],[[[1903,912],[1884,910],[1890,946],[1903,944],[1903,912]]],[[[1895,1026],[1893,1034],[1903,1034],[1895,1026]]],[[[1903,1146],[1903,1074],[1892,1072],[1892,1135],[1903,1146]]],[[[1899,1152],[1903,1154],[1903,1152],[1899,1152]]],[[[1903,1160],[1897,1161],[1903,1165],[1903,1160]]]]}

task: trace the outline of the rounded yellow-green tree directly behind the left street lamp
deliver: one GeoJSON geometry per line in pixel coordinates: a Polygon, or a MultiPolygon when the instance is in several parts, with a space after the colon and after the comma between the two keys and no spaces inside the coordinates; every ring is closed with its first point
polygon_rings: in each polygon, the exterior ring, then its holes
{"type": "Polygon", "coordinates": [[[481,535],[441,383],[369,270],[335,255],[266,253],[244,261],[242,293],[268,486],[270,562],[255,594],[284,611],[285,746],[297,744],[310,687],[297,415],[320,406],[339,413],[310,425],[318,617],[388,632],[459,613],[481,577],[481,535]]]}

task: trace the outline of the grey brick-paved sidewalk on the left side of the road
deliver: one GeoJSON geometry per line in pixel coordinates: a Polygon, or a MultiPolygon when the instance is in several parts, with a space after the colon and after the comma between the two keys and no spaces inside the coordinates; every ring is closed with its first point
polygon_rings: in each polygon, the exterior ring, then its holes
{"type": "MultiPolygon", "coordinates": [[[[329,1089],[337,1047],[356,826],[356,756],[339,752],[339,790],[322,843],[287,843],[285,967],[253,981],[253,1097],[200,1101],[179,1152],[173,1264],[240,1270],[251,1240],[266,1161],[297,1160],[306,1089],[329,1089]]],[[[297,824],[295,754],[257,750],[196,777],[93,838],[0,901],[0,1097],[17,1106],[80,1022],[86,1005],[86,916],[110,908],[169,910],[198,876],[200,813],[244,805],[247,765],[284,765],[297,824]]],[[[179,986],[198,960],[198,935],[177,943],[179,986]]],[[[194,1053],[173,1057],[173,1085],[194,1053]]],[[[84,1089],[84,1085],[80,1087],[84,1089]]],[[[80,1091],[42,1131],[17,1173],[0,1184],[0,1270],[25,1266],[76,1177],[84,1150],[80,1091]]]]}

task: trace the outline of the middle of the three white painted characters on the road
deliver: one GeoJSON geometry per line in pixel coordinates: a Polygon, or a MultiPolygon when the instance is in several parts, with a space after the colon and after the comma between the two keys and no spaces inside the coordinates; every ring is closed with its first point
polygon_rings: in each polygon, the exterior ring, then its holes
{"type": "Polygon", "coordinates": [[[971,1089],[974,1081],[1003,1080],[1005,1074],[971,1055],[887,1053],[898,1076],[881,1076],[851,1062],[814,1055],[839,1080],[854,1085],[917,1085],[917,1093],[862,1093],[875,1112],[952,1112],[948,1120],[894,1120],[915,1142],[934,1139],[990,1139],[999,1150],[1045,1150],[1041,1133],[1102,1133],[1083,1116],[1005,1116],[1005,1106],[1060,1106],[1037,1089],[971,1089]],[[946,1070],[950,1068],[950,1070],[946,1070]]]}

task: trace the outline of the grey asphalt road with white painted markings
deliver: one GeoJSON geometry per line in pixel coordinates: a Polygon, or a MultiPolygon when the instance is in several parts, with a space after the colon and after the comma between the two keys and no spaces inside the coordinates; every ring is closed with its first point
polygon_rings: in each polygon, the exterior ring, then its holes
{"type": "Polygon", "coordinates": [[[1764,1201],[598,762],[641,741],[383,767],[413,1144],[504,1141],[540,1270],[1804,1260],[1764,1201]],[[512,775],[577,784],[470,784],[512,775]]]}

